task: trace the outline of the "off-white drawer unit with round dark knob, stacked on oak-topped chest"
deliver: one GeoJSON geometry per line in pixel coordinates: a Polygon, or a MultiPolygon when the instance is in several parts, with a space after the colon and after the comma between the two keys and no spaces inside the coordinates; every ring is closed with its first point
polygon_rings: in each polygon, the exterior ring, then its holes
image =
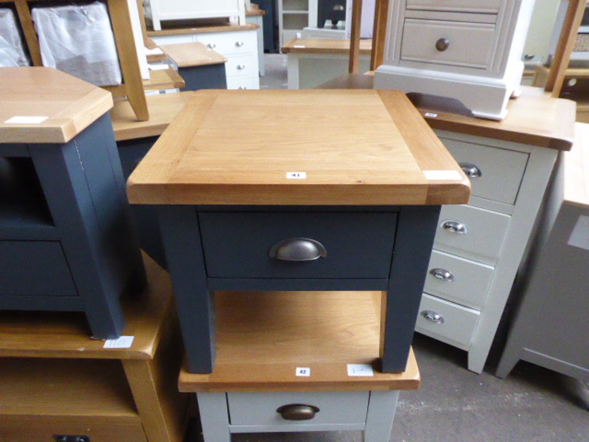
{"type": "Polygon", "coordinates": [[[456,98],[502,120],[517,93],[534,0],[391,0],[375,88],[456,98]]]}

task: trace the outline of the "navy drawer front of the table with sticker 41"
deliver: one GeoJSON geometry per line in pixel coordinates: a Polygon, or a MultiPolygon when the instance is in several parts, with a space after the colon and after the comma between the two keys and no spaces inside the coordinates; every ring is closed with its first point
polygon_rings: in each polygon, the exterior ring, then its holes
{"type": "Polygon", "coordinates": [[[200,212],[210,278],[388,278],[396,213],[200,212]],[[320,242],[325,258],[270,258],[284,239],[320,242]]]}

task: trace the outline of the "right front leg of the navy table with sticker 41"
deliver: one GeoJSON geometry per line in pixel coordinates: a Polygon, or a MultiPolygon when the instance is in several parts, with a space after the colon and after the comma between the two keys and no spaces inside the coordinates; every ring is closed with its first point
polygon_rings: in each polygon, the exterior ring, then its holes
{"type": "Polygon", "coordinates": [[[405,371],[440,206],[401,206],[386,295],[382,371],[405,371]]]}

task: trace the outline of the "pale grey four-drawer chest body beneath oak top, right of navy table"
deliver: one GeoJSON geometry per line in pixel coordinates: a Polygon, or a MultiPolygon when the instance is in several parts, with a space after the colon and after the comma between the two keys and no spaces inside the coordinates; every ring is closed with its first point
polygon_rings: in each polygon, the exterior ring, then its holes
{"type": "Polygon", "coordinates": [[[437,133],[472,193],[442,207],[416,331],[468,351],[469,370],[481,372],[557,151],[437,133]]]}

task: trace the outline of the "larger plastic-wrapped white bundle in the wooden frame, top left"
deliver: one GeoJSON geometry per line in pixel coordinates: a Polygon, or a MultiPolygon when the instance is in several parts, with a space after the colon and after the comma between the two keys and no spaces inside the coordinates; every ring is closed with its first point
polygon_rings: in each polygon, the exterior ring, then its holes
{"type": "Polygon", "coordinates": [[[32,19],[44,66],[97,86],[121,84],[121,68],[106,5],[39,6],[32,19]]]}

